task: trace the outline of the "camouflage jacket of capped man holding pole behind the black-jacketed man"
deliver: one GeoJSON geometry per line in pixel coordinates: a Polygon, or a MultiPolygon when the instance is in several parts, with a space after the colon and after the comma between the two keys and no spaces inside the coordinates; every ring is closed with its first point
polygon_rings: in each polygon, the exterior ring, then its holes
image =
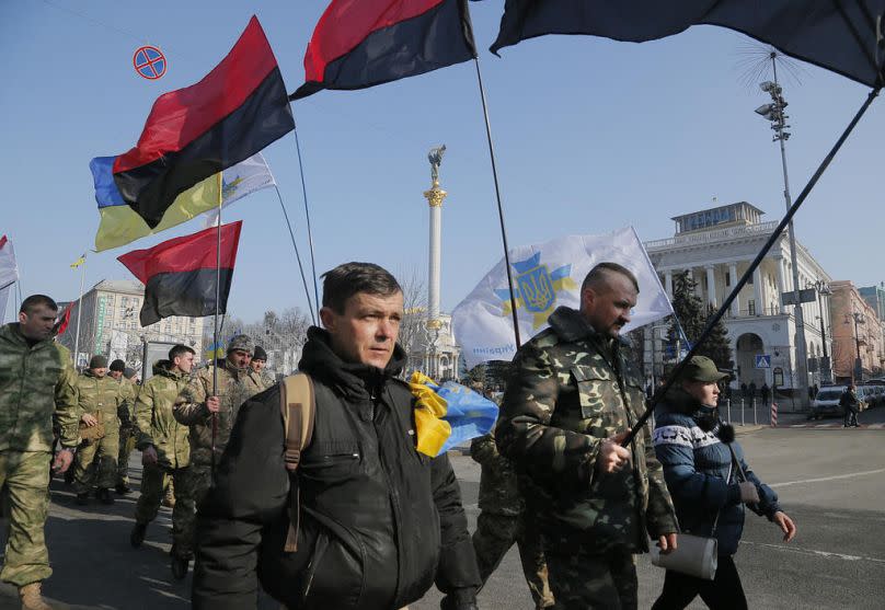
{"type": "MultiPolygon", "coordinates": [[[[215,452],[216,458],[220,458],[240,406],[264,388],[258,375],[249,367],[237,369],[227,359],[219,360],[217,365],[216,394],[221,405],[216,426],[215,452]]],[[[194,465],[209,465],[212,460],[212,417],[206,408],[206,399],[212,395],[214,370],[215,366],[210,365],[197,372],[173,406],[175,419],[191,426],[191,463],[194,465]]]]}

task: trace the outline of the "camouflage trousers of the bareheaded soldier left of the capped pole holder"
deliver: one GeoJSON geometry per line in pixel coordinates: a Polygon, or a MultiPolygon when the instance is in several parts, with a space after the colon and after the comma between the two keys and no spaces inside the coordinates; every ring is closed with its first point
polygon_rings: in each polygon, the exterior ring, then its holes
{"type": "Polygon", "coordinates": [[[139,523],[150,523],[157,518],[160,510],[160,503],[163,500],[166,484],[170,480],[175,481],[179,495],[175,497],[175,507],[172,509],[172,545],[176,554],[191,556],[187,550],[191,549],[191,538],[188,532],[194,531],[194,502],[192,494],[188,494],[189,473],[187,468],[165,469],[152,464],[146,465],[141,471],[141,495],[135,507],[135,520],[139,523]],[[189,536],[191,538],[185,538],[189,536]],[[182,552],[182,549],[185,552],[182,552]]]}

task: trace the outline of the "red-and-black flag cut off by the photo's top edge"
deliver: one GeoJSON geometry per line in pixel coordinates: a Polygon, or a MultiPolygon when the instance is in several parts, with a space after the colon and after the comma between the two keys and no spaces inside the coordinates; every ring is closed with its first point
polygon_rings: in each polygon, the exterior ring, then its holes
{"type": "Polygon", "coordinates": [[[467,0],[332,0],[304,54],[304,84],[366,89],[476,56],[467,0]]]}

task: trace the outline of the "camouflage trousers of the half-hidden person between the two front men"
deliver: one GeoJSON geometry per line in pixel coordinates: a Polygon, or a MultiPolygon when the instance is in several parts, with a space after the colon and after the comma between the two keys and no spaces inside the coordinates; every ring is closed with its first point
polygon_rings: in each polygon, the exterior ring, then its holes
{"type": "Polygon", "coordinates": [[[547,575],[547,561],[541,536],[524,517],[494,515],[486,511],[476,520],[473,532],[473,550],[480,566],[483,585],[497,569],[501,560],[516,542],[519,559],[522,562],[522,574],[529,586],[536,608],[553,608],[553,594],[550,591],[547,575]],[[528,527],[527,527],[528,526],[528,527]]]}

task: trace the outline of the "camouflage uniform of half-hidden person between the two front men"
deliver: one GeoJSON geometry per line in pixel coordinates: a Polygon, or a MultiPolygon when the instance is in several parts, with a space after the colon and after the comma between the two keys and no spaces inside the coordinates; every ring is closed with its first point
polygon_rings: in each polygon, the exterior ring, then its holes
{"type": "Polygon", "coordinates": [[[498,453],[491,434],[473,439],[470,456],[482,464],[480,514],[473,532],[473,550],[483,585],[516,542],[522,573],[536,608],[553,607],[547,579],[547,561],[541,536],[532,520],[525,519],[525,500],[519,493],[516,471],[498,453]]]}

